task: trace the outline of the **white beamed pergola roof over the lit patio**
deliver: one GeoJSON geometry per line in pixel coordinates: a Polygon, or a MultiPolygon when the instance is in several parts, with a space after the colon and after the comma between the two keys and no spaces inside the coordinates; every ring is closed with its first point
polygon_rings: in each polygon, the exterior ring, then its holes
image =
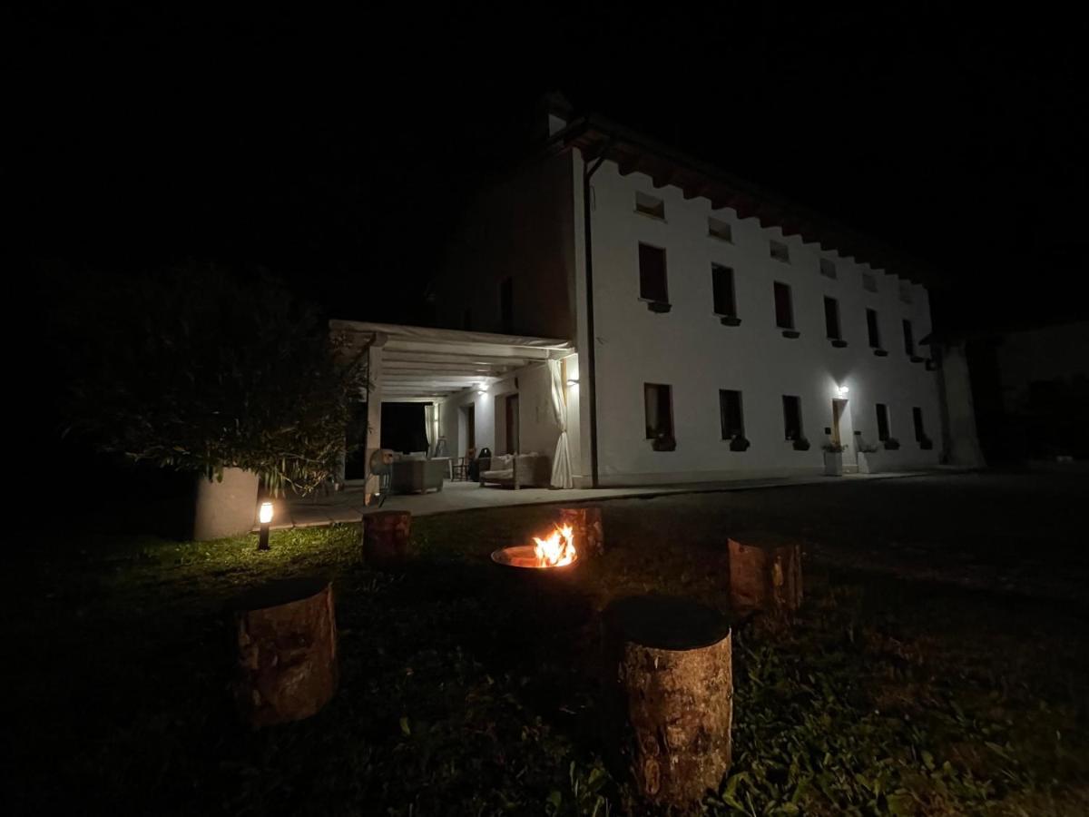
{"type": "Polygon", "coordinates": [[[570,341],[455,329],[331,320],[356,349],[380,347],[383,403],[435,402],[490,386],[530,363],[566,357],[570,341]]]}

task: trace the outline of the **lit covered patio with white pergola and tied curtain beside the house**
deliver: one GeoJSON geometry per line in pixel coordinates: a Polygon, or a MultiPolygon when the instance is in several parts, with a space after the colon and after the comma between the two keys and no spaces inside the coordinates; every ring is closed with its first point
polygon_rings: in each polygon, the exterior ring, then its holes
{"type": "Polygon", "coordinates": [[[531,452],[547,465],[547,481],[538,487],[573,487],[578,369],[570,341],[352,320],[332,320],[330,329],[350,352],[366,355],[366,474],[347,478],[342,466],[338,479],[346,490],[362,491],[365,507],[379,490],[369,464],[382,449],[382,405],[389,403],[425,406],[427,451],[412,459],[441,462],[427,466],[428,490],[437,487],[440,471],[440,491],[456,485],[450,477],[457,461],[482,449],[494,455],[531,452]]]}

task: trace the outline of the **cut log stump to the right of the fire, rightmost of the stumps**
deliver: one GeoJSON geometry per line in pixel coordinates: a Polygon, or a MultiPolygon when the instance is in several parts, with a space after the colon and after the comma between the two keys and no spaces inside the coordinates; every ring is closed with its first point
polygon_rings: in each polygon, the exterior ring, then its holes
{"type": "Polygon", "coordinates": [[[787,617],[802,606],[802,548],[772,534],[730,538],[730,597],[734,609],[787,617]]]}

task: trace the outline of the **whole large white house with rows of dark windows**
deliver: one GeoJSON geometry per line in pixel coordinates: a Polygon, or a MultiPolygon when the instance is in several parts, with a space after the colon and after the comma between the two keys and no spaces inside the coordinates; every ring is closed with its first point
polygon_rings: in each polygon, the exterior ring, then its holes
{"type": "Polygon", "coordinates": [[[454,455],[554,458],[548,369],[517,353],[535,344],[562,358],[576,486],[817,473],[830,440],[848,470],[886,438],[892,467],[938,464],[917,267],[614,123],[562,105],[548,122],[544,148],[466,209],[433,285],[442,326],[469,333],[437,343],[490,338],[517,366],[460,355],[450,379],[383,399],[432,401],[454,455]]]}

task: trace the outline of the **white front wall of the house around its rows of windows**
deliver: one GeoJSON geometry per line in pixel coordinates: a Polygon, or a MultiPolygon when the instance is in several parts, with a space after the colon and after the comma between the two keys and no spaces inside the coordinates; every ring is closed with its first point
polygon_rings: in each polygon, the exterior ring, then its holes
{"type": "MultiPolygon", "coordinates": [[[[580,180],[580,159],[576,158],[574,171],[580,180]]],[[[910,284],[911,303],[904,303],[901,280],[893,276],[804,244],[798,236],[784,237],[779,229],[763,229],[756,219],[741,220],[732,209],[712,214],[708,199],[686,200],[677,187],[656,188],[641,173],[622,176],[612,161],[598,170],[592,187],[598,452],[603,484],[816,473],[822,467],[823,429],[832,424],[837,385],[849,388],[849,423],[868,440],[877,440],[874,404],[889,406],[892,435],[902,446],[895,455],[898,467],[937,464],[941,427],[935,373],[909,361],[901,324],[902,318],[911,320],[916,343],[930,332],[925,288],[910,284]],[[637,191],[665,202],[664,221],[635,212],[637,191]],[[733,243],[708,235],[711,215],[732,224],[733,243]],[[770,257],[770,239],[787,244],[790,264],[770,257]],[[640,241],[666,251],[672,304],[668,314],[651,313],[639,300],[640,241]],[[821,257],[835,261],[835,280],[819,273],[821,257]],[[724,327],[713,314],[712,263],[734,269],[739,327],[724,327]],[[864,271],[874,273],[877,293],[862,289],[864,271]],[[792,289],[798,339],[783,338],[775,326],[774,281],[792,289]],[[825,294],[839,300],[846,349],[832,347],[825,337],[825,294]],[[876,357],[868,344],[866,307],[878,310],[888,357],[876,357]],[[645,382],[672,386],[675,451],[653,451],[645,439],[645,382]],[[745,431],[752,443],[744,453],[730,451],[721,439],[719,389],[743,393],[745,431]],[[808,452],[795,451],[784,439],[783,394],[802,399],[805,435],[812,443],[808,452]],[[920,450],[915,441],[913,406],[922,408],[927,432],[935,443],[932,451],[920,450]]],[[[578,345],[585,350],[589,339],[580,195],[573,207],[578,345]]],[[[917,345],[916,354],[927,356],[928,350],[917,345]]],[[[587,429],[585,385],[582,391],[582,427],[587,429]]],[[[849,441],[848,463],[854,442],[849,441]]],[[[589,473],[587,448],[583,447],[576,468],[582,474],[589,473]]]]}

